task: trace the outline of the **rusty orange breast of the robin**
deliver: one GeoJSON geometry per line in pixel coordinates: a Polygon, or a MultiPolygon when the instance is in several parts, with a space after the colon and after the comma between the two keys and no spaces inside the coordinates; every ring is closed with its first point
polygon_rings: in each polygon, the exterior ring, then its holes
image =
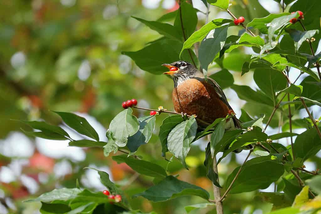
{"type": "Polygon", "coordinates": [[[229,107],[220,99],[214,87],[197,79],[185,80],[174,88],[173,104],[176,112],[195,114],[208,123],[225,117],[229,111],[229,107]]]}

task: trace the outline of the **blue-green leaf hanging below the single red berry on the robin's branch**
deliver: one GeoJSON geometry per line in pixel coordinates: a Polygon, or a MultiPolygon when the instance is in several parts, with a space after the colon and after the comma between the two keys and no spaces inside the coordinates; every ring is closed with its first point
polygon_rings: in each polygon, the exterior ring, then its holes
{"type": "Polygon", "coordinates": [[[155,120],[155,116],[138,118],[139,130],[133,136],[128,137],[127,141],[130,152],[136,152],[139,146],[148,143],[155,129],[155,120]]]}

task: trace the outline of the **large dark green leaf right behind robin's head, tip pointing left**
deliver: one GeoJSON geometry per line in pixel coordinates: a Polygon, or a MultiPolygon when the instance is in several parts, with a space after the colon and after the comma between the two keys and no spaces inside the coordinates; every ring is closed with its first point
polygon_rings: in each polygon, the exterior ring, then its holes
{"type": "MultiPolygon", "coordinates": [[[[164,73],[165,71],[168,71],[167,68],[161,66],[164,63],[172,63],[180,59],[192,63],[191,57],[187,50],[184,51],[179,57],[182,45],[183,44],[178,42],[177,40],[165,38],[156,41],[139,51],[122,52],[122,54],[125,54],[132,58],[135,61],[136,65],[142,70],[159,75],[164,73]]],[[[194,61],[198,62],[194,52],[191,51],[191,53],[194,61]]]]}

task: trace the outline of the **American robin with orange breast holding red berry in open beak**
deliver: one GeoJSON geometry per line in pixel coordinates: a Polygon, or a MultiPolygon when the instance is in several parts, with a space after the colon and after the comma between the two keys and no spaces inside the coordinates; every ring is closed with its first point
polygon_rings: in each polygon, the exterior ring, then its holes
{"type": "MultiPolygon", "coordinates": [[[[217,118],[225,118],[232,110],[221,87],[211,78],[205,81],[204,74],[186,61],[162,64],[169,68],[164,74],[174,80],[173,104],[176,112],[197,115],[197,118],[213,123],[217,118]]],[[[206,124],[200,124],[206,127],[206,124]]],[[[226,129],[241,128],[238,119],[229,119],[226,129]]]]}

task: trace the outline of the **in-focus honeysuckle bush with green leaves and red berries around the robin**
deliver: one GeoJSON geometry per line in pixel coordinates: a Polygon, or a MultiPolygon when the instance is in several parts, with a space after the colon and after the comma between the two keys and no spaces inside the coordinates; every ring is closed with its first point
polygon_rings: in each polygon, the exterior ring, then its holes
{"type": "MultiPolygon", "coordinates": [[[[253,4],[247,4],[248,11],[255,10],[253,16],[257,18],[253,20],[249,20],[248,15],[238,14],[239,10],[230,11],[229,6],[234,1],[203,2],[207,7],[215,6],[229,12],[231,19],[218,18],[199,26],[197,10],[190,3],[181,1],[178,10],[169,12],[156,21],[133,17],[161,36],[150,41],[141,50],[123,54],[131,57],[142,70],[155,75],[165,71],[161,67],[162,63],[178,60],[195,64],[205,76],[212,68],[219,68],[220,71],[209,77],[216,80],[223,89],[232,88],[240,99],[246,101],[239,117],[242,129],[224,129],[226,120],[233,117],[232,115],[216,119],[203,129],[197,125],[197,115],[169,115],[163,119],[159,127],[158,136],[162,147],[159,156],[165,158],[169,164],[172,158],[177,158],[182,166],[189,169],[186,157],[192,149],[193,142],[210,136],[204,155],[204,173],[213,185],[221,188],[223,197],[265,189],[275,183],[277,188],[274,192],[262,192],[257,195],[260,200],[270,203],[271,206],[266,212],[319,212],[321,175],[318,170],[304,169],[304,161],[315,157],[321,149],[321,118],[314,118],[313,113],[308,110],[308,107],[313,105],[321,107],[321,53],[315,53],[321,38],[321,2],[284,0],[283,3],[276,0],[282,5],[284,12],[268,14],[253,0],[250,1],[253,4]],[[303,12],[304,19],[299,19],[297,11],[303,12]],[[235,27],[233,15],[243,15],[246,20],[244,26],[242,25],[244,28],[239,26],[239,35],[228,33],[230,28],[235,27]],[[294,24],[289,22],[293,18],[298,19],[294,24]],[[253,53],[244,55],[239,51],[242,46],[250,47],[253,53]],[[233,75],[229,70],[241,72],[242,76],[253,72],[258,89],[234,84],[233,75]],[[289,73],[295,73],[294,76],[298,78],[302,75],[304,78],[298,83],[298,79],[289,78],[289,73]],[[301,110],[305,111],[306,117],[302,118],[302,114],[299,114],[301,110]],[[268,126],[279,127],[279,131],[268,136],[265,133],[268,126]],[[297,128],[306,130],[296,133],[297,128]],[[284,146],[278,143],[282,138],[288,138],[291,144],[284,146]],[[220,163],[229,153],[237,149],[246,149],[249,144],[254,147],[249,152],[255,157],[246,159],[242,166],[236,167],[222,185],[218,180],[218,173],[213,169],[213,165],[216,165],[214,157],[221,152],[222,156],[217,160],[220,163]]],[[[133,109],[125,109],[111,120],[106,133],[108,142],[100,141],[97,132],[87,120],[73,113],[55,112],[67,126],[88,138],[74,140],[64,129],[46,122],[23,122],[39,130],[28,132],[30,135],[70,140],[70,146],[99,147],[105,156],[117,151],[124,152],[126,154],[112,156],[112,159],[117,163],[126,163],[140,175],[151,177],[152,186],[128,197],[118,185],[110,181],[107,172],[90,169],[98,171],[101,183],[111,194],[122,195],[121,202],[110,203],[103,193],[91,192],[79,188],[76,184],[75,188],[55,189],[38,198],[30,199],[29,202],[40,201],[41,213],[69,214],[141,213],[131,208],[131,201],[135,197],[144,197],[152,202],[168,201],[187,195],[203,199],[203,203],[200,204],[186,204],[186,212],[215,206],[214,201],[210,199],[210,193],[205,189],[182,181],[176,174],[169,173],[155,161],[135,154],[140,147],[149,146],[148,142],[159,115],[137,118],[132,114],[133,109]]],[[[162,110],[160,113],[166,114],[162,110]]]]}

